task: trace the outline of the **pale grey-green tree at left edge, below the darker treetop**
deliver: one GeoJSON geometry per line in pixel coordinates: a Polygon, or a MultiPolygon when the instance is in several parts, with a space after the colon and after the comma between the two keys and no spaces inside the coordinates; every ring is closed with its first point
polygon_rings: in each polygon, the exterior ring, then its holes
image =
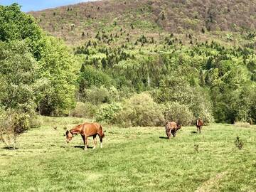
{"type": "Polygon", "coordinates": [[[38,63],[24,41],[0,41],[0,103],[5,109],[24,112],[35,107],[34,92],[38,79],[38,63]]]}

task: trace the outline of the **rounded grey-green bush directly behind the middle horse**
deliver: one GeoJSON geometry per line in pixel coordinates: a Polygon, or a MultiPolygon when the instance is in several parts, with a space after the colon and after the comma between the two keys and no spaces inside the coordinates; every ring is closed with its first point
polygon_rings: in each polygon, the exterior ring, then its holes
{"type": "Polygon", "coordinates": [[[181,125],[190,125],[193,122],[193,112],[186,105],[178,102],[168,102],[165,105],[164,117],[166,121],[178,122],[181,125]]]}

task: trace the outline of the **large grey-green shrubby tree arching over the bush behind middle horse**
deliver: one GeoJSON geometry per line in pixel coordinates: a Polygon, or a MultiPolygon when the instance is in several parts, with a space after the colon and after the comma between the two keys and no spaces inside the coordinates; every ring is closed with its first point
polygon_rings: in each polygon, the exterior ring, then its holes
{"type": "Polygon", "coordinates": [[[206,124],[214,121],[213,105],[210,102],[208,91],[199,87],[191,87],[184,78],[164,78],[160,82],[159,89],[152,91],[151,95],[156,102],[178,102],[188,107],[195,119],[200,117],[206,124]]]}

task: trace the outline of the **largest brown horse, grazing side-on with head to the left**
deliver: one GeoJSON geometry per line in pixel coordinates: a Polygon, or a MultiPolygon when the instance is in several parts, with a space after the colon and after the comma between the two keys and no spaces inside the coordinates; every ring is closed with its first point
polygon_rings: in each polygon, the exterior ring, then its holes
{"type": "Polygon", "coordinates": [[[100,147],[102,148],[102,139],[105,137],[105,134],[103,132],[102,126],[98,123],[84,123],[79,124],[78,126],[75,126],[73,129],[67,130],[66,132],[66,139],[67,143],[71,141],[74,134],[81,134],[82,140],[85,144],[85,150],[87,149],[87,139],[88,137],[93,137],[93,149],[96,148],[97,140],[96,136],[99,135],[100,137],[100,147]]]}

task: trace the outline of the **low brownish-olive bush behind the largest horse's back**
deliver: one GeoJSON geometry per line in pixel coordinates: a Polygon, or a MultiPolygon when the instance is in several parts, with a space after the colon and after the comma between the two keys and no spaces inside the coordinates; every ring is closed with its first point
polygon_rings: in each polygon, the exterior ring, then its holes
{"type": "Polygon", "coordinates": [[[70,116],[92,118],[95,117],[96,112],[97,106],[92,105],[90,102],[77,102],[75,109],[70,112],[70,116]]]}

